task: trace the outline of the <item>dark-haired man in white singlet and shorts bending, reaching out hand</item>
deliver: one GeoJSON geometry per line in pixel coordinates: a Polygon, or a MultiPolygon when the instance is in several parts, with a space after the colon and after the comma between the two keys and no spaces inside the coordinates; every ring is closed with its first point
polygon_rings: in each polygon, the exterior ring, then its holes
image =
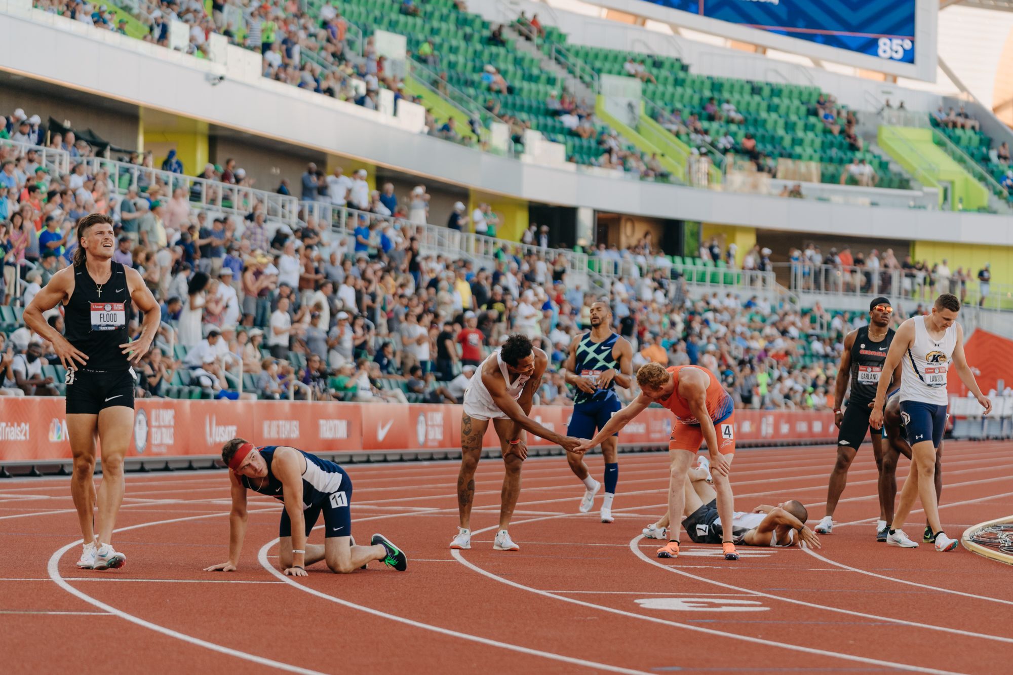
{"type": "Polygon", "coordinates": [[[496,550],[521,548],[511,540],[506,528],[521,494],[521,466],[528,456],[524,432],[558,443],[567,452],[580,445],[579,439],[549,431],[528,417],[532,398],[542,385],[542,374],[548,362],[545,352],[535,349],[525,335],[513,334],[471,376],[468,389],[464,392],[464,415],[461,418],[461,472],[457,478],[461,525],[450,543],[451,548],[471,548],[475,469],[482,454],[482,437],[488,429],[489,420],[499,437],[499,450],[506,468],[499,505],[499,529],[492,544],[496,550]]]}

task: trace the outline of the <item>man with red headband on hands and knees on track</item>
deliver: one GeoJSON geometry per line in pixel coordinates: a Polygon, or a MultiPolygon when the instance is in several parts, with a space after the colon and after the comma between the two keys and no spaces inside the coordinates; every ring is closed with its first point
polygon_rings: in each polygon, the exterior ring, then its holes
{"type": "Polygon", "coordinates": [[[342,574],[365,568],[370,560],[382,560],[398,572],[407,567],[404,552],[382,534],[373,535],[371,546],[356,545],[352,538],[352,479],[334,462],[283,445],[257,448],[241,438],[225,444],[222,460],[231,469],[229,561],[205,572],[233,572],[239,567],[246,535],[247,490],[285,504],[279,547],[286,575],[305,577],[306,568],[320,560],[325,560],[331,572],[342,574]],[[307,544],[321,512],[324,543],[307,544]]]}

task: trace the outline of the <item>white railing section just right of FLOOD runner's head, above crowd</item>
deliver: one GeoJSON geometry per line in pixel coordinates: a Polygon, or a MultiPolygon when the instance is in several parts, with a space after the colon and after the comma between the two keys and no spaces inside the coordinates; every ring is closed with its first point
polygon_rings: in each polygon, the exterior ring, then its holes
{"type": "Polygon", "coordinates": [[[157,185],[165,189],[165,198],[168,199],[176,189],[182,188],[186,191],[187,201],[191,207],[245,216],[259,204],[262,205],[266,217],[277,218],[290,225],[296,223],[299,215],[299,201],[287,195],[102,157],[85,157],[82,161],[91,173],[105,169],[119,195],[125,195],[130,188],[136,188],[140,193],[157,185]]]}

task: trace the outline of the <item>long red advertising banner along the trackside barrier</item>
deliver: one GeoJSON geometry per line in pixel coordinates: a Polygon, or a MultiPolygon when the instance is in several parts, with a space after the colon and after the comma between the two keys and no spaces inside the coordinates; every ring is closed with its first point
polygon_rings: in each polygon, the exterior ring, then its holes
{"type": "MultiPolygon", "coordinates": [[[[531,417],[565,435],[571,408],[536,405],[531,417]]],[[[648,408],[619,436],[622,446],[668,447],[674,418],[648,408]]],[[[830,411],[735,410],[741,443],[832,441],[830,411]]],[[[236,437],[257,445],[292,445],[308,452],[455,450],[461,447],[461,406],[423,403],[213,401],[139,399],[129,457],[214,456],[236,437]]],[[[483,439],[498,448],[494,426],[483,439]]],[[[528,435],[531,447],[553,445],[528,435]]],[[[0,398],[0,462],[71,458],[63,398],[0,398]]]]}

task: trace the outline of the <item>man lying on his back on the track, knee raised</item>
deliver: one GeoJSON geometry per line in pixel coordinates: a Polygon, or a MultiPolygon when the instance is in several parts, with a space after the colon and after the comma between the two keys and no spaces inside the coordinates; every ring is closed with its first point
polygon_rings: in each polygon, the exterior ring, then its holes
{"type": "MultiPolygon", "coordinates": [[[[683,527],[694,543],[721,543],[725,536],[717,515],[717,493],[711,485],[708,462],[697,460],[687,472],[684,488],[683,527]]],[[[800,541],[820,548],[820,537],[805,526],[808,512],[801,502],[789,500],[777,506],[762,504],[752,513],[736,511],[731,517],[731,540],[746,546],[793,546],[800,541]],[[798,537],[795,537],[795,533],[798,537]]],[[[669,514],[644,529],[644,536],[665,538],[669,514]]]]}

